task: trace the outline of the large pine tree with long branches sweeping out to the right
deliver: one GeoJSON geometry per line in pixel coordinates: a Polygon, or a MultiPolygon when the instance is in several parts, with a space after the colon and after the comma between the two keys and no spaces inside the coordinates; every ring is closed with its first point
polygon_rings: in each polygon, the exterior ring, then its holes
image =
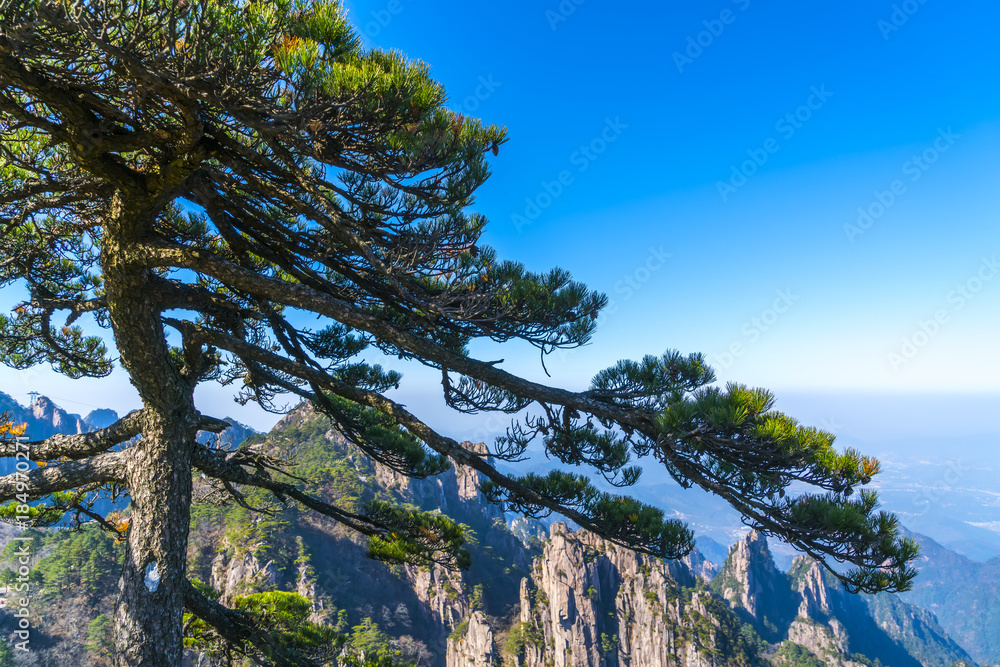
{"type": "MultiPolygon", "coordinates": [[[[80,378],[110,373],[114,355],[143,403],[95,433],[31,443],[47,465],[0,478],[0,500],[35,522],[101,520],[94,494],[127,492],[116,664],[179,665],[185,608],[275,653],[185,578],[195,474],[233,502],[257,487],[301,503],[367,535],[379,558],[468,558],[446,519],[385,504],[351,513],[273,459],[198,444],[199,429],[224,427],[195,405],[202,382],[265,408],[307,399],[405,475],[461,463],[511,511],[557,512],[655,556],[691,549],[682,523],[582,475],[501,473],[387,398],[401,376],[363,352],[436,369],[456,410],[512,415],[488,443],[495,458],[538,439],[627,486],[630,461],[652,456],[759,530],[850,564],[850,587],[908,585],[915,547],[874,492],[854,493],[878,463],[773,411],[766,391],[712,386],[701,355],[623,361],[585,391],[471,356],[477,339],[582,345],[607,303],[566,271],[531,273],[480,243],[486,220],[469,207],[504,141],[449,111],[426,65],[363,50],[331,2],[0,1],[0,286],[27,290],[0,317],[0,359],[80,378]],[[86,334],[88,321],[108,335],[86,334]],[[517,418],[525,408],[533,416],[517,418]]],[[[16,454],[10,439],[2,454],[16,454]]]]}

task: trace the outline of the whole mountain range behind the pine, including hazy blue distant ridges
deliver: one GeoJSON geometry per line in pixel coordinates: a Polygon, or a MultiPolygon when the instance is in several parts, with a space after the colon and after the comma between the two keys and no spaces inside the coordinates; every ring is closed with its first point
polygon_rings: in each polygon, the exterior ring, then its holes
{"type": "MultiPolygon", "coordinates": [[[[111,411],[79,417],[43,398],[25,408],[0,394],[2,409],[28,422],[32,438],[99,428],[117,418],[111,411]]],[[[234,422],[228,433],[221,444],[236,444],[250,431],[234,422]]],[[[475,535],[473,566],[464,572],[388,568],[364,557],[357,536],[294,507],[258,521],[240,508],[199,504],[192,512],[191,575],[216,588],[223,601],[287,590],[311,600],[316,622],[334,622],[338,610],[352,625],[369,619],[412,659],[410,664],[950,667],[1000,662],[1000,558],[973,561],[915,535],[923,552],[914,590],[856,596],[807,558],[792,559],[783,571],[756,533],[698,522],[696,531],[708,533],[699,536],[698,549],[684,561],[665,562],[563,523],[504,516],[483,502],[475,472],[456,467],[426,480],[401,477],[373,464],[308,406],[256,441],[276,455],[293,456],[296,474],[310,480],[309,490],[332,502],[351,507],[380,498],[440,510],[466,523],[475,535]]],[[[647,500],[666,497],[656,485],[637,491],[647,500]]],[[[682,496],[676,506],[665,506],[679,508],[684,516],[699,511],[701,500],[682,496]]],[[[69,543],[54,541],[47,557],[60,557],[60,549],[69,548],[60,545],[69,543]]],[[[39,651],[37,664],[103,664],[82,647],[75,629],[110,613],[112,603],[110,595],[43,592],[40,617],[60,621],[39,625],[44,637],[39,646],[50,648],[39,651]]],[[[9,623],[0,613],[0,631],[9,623]]],[[[189,658],[191,664],[214,664],[205,656],[189,658]]]]}

